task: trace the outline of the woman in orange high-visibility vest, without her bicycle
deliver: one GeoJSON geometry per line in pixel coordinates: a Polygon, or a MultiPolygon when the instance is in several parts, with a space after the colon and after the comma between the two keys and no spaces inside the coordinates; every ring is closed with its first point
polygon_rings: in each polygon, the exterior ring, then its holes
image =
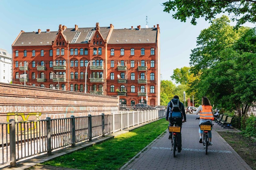
{"type": "MultiPolygon", "coordinates": [[[[199,113],[200,115],[199,124],[207,121],[211,122],[212,124],[212,120],[214,120],[214,113],[212,110],[212,106],[207,97],[202,97],[202,105],[200,105],[196,111],[193,111],[193,113],[195,114],[199,113]]],[[[199,128],[199,135],[200,135],[199,143],[203,143],[202,134],[203,134],[203,131],[200,130],[199,128]]],[[[208,131],[208,135],[209,135],[209,144],[212,145],[212,131],[208,131]]]]}

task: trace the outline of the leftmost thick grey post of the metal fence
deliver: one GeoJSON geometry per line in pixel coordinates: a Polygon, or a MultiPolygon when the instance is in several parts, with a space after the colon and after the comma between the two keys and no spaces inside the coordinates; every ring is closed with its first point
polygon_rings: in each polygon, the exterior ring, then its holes
{"type": "MultiPolygon", "coordinates": [[[[15,138],[15,120],[10,119],[9,124],[10,127],[10,166],[16,166],[16,138],[15,138]]],[[[7,134],[6,134],[7,135],[7,134]]],[[[3,142],[3,141],[2,141],[3,142]]],[[[6,141],[6,143],[8,143],[6,141]]]]}

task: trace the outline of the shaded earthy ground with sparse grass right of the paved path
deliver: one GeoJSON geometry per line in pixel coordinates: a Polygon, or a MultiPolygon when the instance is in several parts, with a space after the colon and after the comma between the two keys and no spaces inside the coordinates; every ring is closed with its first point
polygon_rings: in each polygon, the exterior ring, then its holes
{"type": "Polygon", "coordinates": [[[256,141],[245,138],[240,133],[218,132],[221,137],[241,156],[242,159],[253,169],[256,170],[256,141]]]}

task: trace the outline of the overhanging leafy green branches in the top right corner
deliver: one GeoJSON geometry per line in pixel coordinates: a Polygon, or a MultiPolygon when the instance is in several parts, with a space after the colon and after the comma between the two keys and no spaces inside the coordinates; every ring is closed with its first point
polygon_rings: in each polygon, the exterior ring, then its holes
{"type": "Polygon", "coordinates": [[[216,14],[227,12],[232,14],[232,21],[237,21],[236,27],[246,23],[256,22],[256,1],[255,0],[169,0],[163,3],[164,12],[170,13],[174,19],[186,22],[192,17],[191,24],[196,25],[196,19],[203,17],[211,22],[216,14]]]}

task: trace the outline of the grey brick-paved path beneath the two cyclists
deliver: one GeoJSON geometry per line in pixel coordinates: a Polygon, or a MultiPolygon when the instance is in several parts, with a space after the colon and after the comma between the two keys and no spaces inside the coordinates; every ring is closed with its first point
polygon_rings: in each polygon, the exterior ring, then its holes
{"type": "MultiPolygon", "coordinates": [[[[173,157],[169,133],[154,141],[137,158],[129,163],[125,170],[163,170],[163,169],[236,169],[251,170],[250,166],[232,149],[215,131],[220,126],[215,124],[212,130],[213,145],[205,154],[203,144],[199,143],[199,121],[197,115],[187,115],[187,122],[182,126],[182,151],[173,157]]],[[[166,122],[166,126],[168,122],[166,122]]]]}

